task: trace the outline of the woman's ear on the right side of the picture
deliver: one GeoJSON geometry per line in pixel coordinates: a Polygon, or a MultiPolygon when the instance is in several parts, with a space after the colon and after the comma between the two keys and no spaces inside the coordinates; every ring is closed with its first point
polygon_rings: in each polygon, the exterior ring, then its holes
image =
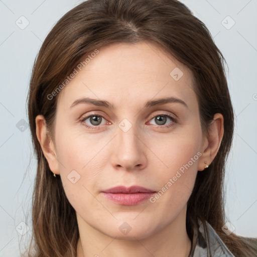
{"type": "Polygon", "coordinates": [[[202,156],[199,159],[198,171],[204,170],[205,165],[210,165],[217,155],[224,134],[223,121],[222,114],[216,113],[213,116],[213,120],[208,127],[209,137],[204,136],[203,139],[202,156]]]}

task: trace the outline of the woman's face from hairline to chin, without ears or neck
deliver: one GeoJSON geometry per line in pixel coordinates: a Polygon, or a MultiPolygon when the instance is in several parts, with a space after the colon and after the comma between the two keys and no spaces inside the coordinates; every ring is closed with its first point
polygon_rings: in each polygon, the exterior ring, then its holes
{"type": "Polygon", "coordinates": [[[204,167],[193,77],[151,43],[98,50],[60,92],[55,173],[80,227],[145,238],[185,220],[204,167]],[[135,185],[156,193],[103,192],[135,185]]]}

